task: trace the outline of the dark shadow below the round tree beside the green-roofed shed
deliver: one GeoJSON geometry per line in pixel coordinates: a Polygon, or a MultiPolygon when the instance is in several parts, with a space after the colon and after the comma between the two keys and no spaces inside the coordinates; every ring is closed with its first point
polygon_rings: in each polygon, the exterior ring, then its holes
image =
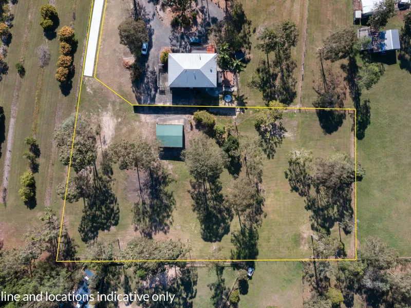
{"type": "Polygon", "coordinates": [[[231,208],[225,204],[222,186],[219,180],[203,183],[191,182],[190,195],[193,199],[193,210],[200,222],[201,238],[207,242],[221,241],[230,232],[233,219],[231,208]]]}

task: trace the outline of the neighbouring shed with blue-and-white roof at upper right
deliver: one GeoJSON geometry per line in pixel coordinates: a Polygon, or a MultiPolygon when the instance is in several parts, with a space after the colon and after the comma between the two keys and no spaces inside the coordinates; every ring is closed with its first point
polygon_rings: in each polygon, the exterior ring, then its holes
{"type": "Polygon", "coordinates": [[[362,48],[363,50],[369,50],[370,52],[385,52],[401,48],[398,29],[378,31],[371,30],[370,27],[367,27],[358,29],[357,35],[359,38],[371,38],[370,45],[362,48]]]}

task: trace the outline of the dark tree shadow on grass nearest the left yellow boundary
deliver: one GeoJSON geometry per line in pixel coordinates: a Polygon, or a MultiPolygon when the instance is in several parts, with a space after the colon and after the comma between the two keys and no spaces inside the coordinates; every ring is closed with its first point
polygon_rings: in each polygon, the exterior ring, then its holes
{"type": "Polygon", "coordinates": [[[83,242],[95,240],[99,231],[109,231],[120,219],[117,197],[111,190],[111,180],[97,176],[90,191],[86,192],[86,200],[79,225],[79,233],[83,242]]]}

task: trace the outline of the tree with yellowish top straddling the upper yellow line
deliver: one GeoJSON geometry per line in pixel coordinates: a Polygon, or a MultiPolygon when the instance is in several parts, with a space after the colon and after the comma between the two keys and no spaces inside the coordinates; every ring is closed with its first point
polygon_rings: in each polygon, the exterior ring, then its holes
{"type": "Polygon", "coordinates": [[[260,136],[260,143],[268,158],[273,158],[275,148],[283,142],[287,131],[282,122],[284,104],[273,101],[269,103],[269,109],[261,110],[255,118],[255,129],[260,136]]]}

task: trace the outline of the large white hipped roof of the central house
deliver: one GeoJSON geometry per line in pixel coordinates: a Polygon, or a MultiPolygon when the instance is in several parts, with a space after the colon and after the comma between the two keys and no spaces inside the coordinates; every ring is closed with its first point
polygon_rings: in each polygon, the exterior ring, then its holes
{"type": "Polygon", "coordinates": [[[217,87],[216,61],[216,53],[169,53],[169,87],[217,87]]]}

